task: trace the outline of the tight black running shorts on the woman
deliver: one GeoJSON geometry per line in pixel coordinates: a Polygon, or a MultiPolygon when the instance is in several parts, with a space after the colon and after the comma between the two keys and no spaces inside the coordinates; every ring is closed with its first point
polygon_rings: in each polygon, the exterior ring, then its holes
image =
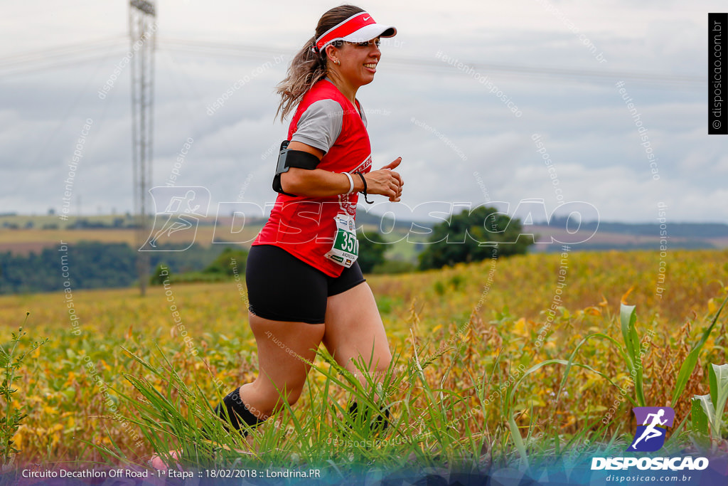
{"type": "Polygon", "coordinates": [[[329,277],[272,245],[251,247],[245,267],[248,309],[272,321],[323,324],[326,299],[364,281],[357,262],[344,268],[339,277],[329,277]]]}

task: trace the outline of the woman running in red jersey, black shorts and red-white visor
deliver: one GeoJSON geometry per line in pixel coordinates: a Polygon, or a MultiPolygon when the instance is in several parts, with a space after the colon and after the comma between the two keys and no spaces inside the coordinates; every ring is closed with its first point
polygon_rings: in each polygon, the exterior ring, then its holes
{"type": "MultiPolygon", "coordinates": [[[[254,428],[285,407],[282,399],[296,403],[321,342],[363,384],[354,361],[363,358],[381,380],[392,360],[355,261],[355,216],[357,193],[400,200],[403,181],[393,169],[402,157],[371,170],[367,120],[356,95],[374,79],[379,38],[396,33],[359,7],[335,7],[320,18],[277,87],[276,116],[283,121],[293,114],[273,183],[280,194],[245,271],[258,377],[215,409],[244,435],[241,422],[254,428]]],[[[357,414],[355,401],[349,412],[357,414]]],[[[386,426],[380,411],[373,414],[386,426]]]]}

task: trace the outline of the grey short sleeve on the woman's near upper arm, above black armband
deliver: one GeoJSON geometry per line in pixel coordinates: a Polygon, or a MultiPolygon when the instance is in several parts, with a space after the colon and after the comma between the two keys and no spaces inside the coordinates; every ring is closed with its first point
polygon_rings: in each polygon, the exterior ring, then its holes
{"type": "Polygon", "coordinates": [[[311,103],[298,119],[296,133],[293,133],[290,141],[328,152],[336,138],[339,138],[343,117],[344,110],[336,101],[319,100],[311,103]]]}

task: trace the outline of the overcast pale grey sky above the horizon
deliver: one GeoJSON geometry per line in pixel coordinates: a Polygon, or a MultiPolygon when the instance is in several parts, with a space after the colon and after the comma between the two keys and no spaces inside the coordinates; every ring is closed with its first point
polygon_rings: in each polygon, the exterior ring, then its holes
{"type": "MultiPolygon", "coordinates": [[[[176,184],[206,187],[211,213],[223,201],[274,200],[270,153],[288,126],[274,120],[274,86],[335,5],[158,1],[153,185],[165,184],[191,139],[176,184]],[[236,46],[261,50],[224,50],[236,46]]],[[[503,201],[513,211],[542,199],[546,213],[589,203],[603,221],[654,222],[664,203],[670,222],[728,222],[728,137],[707,135],[706,107],[708,12],[724,11],[724,1],[359,5],[398,30],[383,43],[376,79],[357,93],[374,167],[403,157],[403,202],[374,211],[406,216],[428,201],[503,201]]],[[[3,9],[0,212],[60,211],[87,119],[71,213],[79,203],[84,214],[129,211],[129,66],[98,95],[129,50],[127,2],[25,0],[3,9]]]]}

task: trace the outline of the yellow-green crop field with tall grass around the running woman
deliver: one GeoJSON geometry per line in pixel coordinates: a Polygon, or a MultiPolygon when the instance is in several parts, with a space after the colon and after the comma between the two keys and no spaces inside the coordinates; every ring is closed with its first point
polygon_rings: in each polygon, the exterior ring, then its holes
{"type": "MultiPolygon", "coordinates": [[[[726,362],[723,314],[673,400],[681,364],[726,297],[724,250],[670,251],[662,260],[645,251],[531,254],[372,275],[368,283],[398,356],[391,383],[379,390],[394,417],[379,436],[384,442],[337,442],[346,428],[341,408],[352,393],[373,398],[320,356],[293,411],[264,423],[247,442],[226,439],[230,447],[266,463],[397,466],[524,460],[524,451],[582,454],[609,442],[623,450],[633,432],[630,401],[640,397],[634,388],[622,397],[618,388],[630,375],[620,348],[622,299],[636,305],[646,350],[644,400],[672,406],[676,423],[689,415],[694,394],[708,393],[708,364],[726,362]],[[593,333],[614,342],[579,344],[593,333]],[[569,359],[574,366],[565,366],[569,359]]],[[[17,462],[143,463],[155,450],[189,446],[199,424],[210,420],[202,397],[214,405],[216,396],[256,375],[244,289],[235,281],[169,289],[191,340],[173,321],[169,291],[159,287],[144,298],[135,289],[78,291],[71,299],[60,292],[0,297],[4,348],[26,312],[20,350],[28,338],[50,338],[25,358],[12,402],[0,398],[2,410],[28,407],[13,438],[17,462]]],[[[686,431],[673,433],[670,447],[690,444],[686,431]]],[[[219,460],[211,451],[202,447],[193,462],[219,460]]]]}

